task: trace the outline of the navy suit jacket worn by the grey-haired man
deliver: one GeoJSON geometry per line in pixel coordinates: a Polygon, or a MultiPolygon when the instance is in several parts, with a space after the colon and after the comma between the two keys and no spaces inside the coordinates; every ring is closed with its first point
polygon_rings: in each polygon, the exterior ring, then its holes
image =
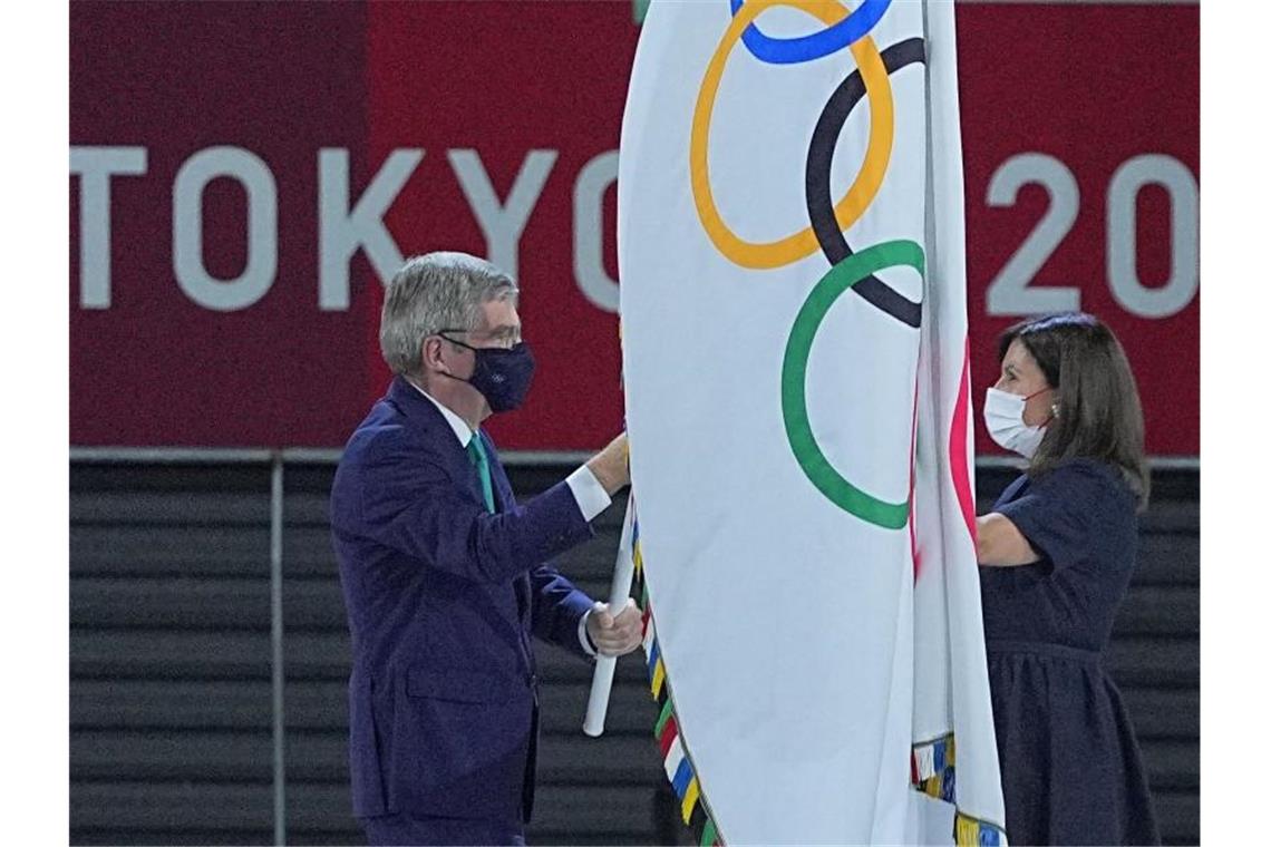
{"type": "Polygon", "coordinates": [[[519,505],[493,443],[480,480],[402,377],[344,448],[330,523],[353,668],[353,813],[529,820],[538,740],[530,635],[578,655],[591,599],[548,560],[592,537],[568,485],[519,505]]]}

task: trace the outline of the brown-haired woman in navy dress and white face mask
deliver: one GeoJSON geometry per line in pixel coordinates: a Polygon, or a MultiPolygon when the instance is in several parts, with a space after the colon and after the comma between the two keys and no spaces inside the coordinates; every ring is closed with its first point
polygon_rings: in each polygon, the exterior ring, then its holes
{"type": "Polygon", "coordinates": [[[993,719],[1012,844],[1159,844],[1121,695],[1103,670],[1148,500],[1121,344],[1085,314],[1017,324],[985,424],[1027,471],[977,519],[993,719]]]}

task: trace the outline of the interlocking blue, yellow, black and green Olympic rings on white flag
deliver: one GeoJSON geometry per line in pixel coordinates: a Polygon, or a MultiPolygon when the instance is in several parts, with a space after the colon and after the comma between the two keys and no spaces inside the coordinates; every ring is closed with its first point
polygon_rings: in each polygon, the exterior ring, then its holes
{"type": "Polygon", "coordinates": [[[689,175],[702,227],[716,249],[733,263],[754,269],[779,268],[811,255],[817,248],[830,262],[830,270],[803,301],[785,343],[780,385],[785,437],[803,474],[831,503],[874,526],[901,530],[909,522],[907,500],[891,503],[863,491],[835,470],[821,451],[808,420],[806,386],[816,334],[830,307],[849,288],[907,326],[918,328],[921,323],[921,303],[907,300],[874,276],[883,268],[910,267],[924,277],[927,259],[921,245],[892,240],[853,254],[844,235],[873,202],[891,160],[895,110],[890,75],[925,61],[921,38],[892,44],[882,53],[869,38],[890,4],[891,0],[864,0],[849,13],[816,0],[731,0],[732,22],[707,65],[693,110],[689,175]],[[752,22],[773,6],[798,9],[817,18],[825,28],[801,38],[769,38],[752,22]],[[825,104],[808,145],[805,190],[810,226],[777,241],[752,243],[740,237],[724,223],[710,192],[710,119],[724,65],[738,41],[758,60],[774,65],[821,58],[843,47],[850,48],[857,65],[825,104]],[[830,196],[834,149],[862,98],[869,103],[864,160],[846,194],[834,204],[830,196]]]}

